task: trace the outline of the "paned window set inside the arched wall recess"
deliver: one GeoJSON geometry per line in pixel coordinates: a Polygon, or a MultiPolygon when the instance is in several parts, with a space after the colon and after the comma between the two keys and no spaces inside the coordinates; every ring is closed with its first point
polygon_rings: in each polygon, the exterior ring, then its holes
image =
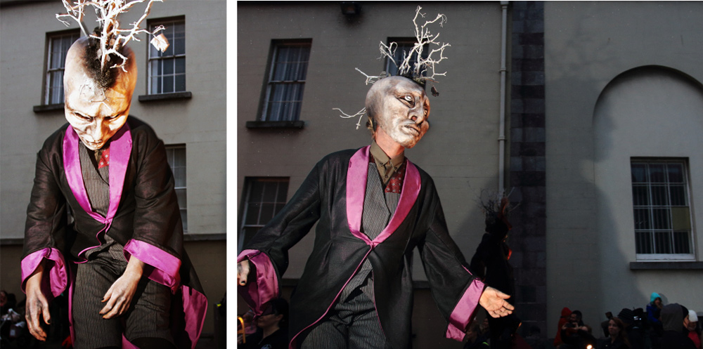
{"type": "Polygon", "coordinates": [[[638,260],[695,259],[684,159],[631,159],[638,260]]]}

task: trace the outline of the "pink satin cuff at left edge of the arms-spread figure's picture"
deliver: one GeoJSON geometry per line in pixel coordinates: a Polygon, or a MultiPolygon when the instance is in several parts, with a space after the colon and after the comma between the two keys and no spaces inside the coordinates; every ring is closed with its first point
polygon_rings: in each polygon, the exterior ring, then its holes
{"type": "Polygon", "coordinates": [[[258,250],[244,250],[239,253],[237,263],[247,258],[257,269],[256,282],[247,283],[246,286],[238,284],[238,293],[252,308],[254,315],[259,316],[266,310],[266,303],[278,298],[278,277],[266,253],[258,250]]]}

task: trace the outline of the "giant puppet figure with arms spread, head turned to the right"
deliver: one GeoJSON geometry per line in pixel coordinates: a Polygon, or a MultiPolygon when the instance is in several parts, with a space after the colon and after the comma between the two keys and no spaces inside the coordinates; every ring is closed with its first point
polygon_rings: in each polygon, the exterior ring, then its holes
{"type": "Polygon", "coordinates": [[[288,249],[317,222],[290,299],[290,348],[409,348],[415,248],[448,338],[463,339],[477,305],[493,317],[510,314],[508,295],[468,271],[432,178],[404,156],[430,127],[424,88],[407,77],[378,79],[366,114],[371,144],[321,159],[247,243],[238,257],[239,293],[257,315],[266,314],[288,249]]]}

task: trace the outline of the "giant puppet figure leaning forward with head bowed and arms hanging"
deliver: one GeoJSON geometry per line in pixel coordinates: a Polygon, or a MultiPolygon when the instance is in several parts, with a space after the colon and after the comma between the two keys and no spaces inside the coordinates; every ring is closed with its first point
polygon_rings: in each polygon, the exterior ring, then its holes
{"type": "Polygon", "coordinates": [[[74,348],[195,348],[207,299],[183,250],[164,143],[128,117],[134,54],[117,48],[110,64],[122,64],[102,67],[96,33],[67,52],[68,124],[37,154],[22,257],[27,325],[46,340],[41,321],[66,290],[74,348]]]}

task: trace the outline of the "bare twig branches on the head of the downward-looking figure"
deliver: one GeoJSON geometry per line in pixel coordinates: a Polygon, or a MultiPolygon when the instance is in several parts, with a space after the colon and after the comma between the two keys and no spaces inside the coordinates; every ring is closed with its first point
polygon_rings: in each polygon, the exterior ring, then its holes
{"type": "Polygon", "coordinates": [[[99,37],[96,34],[90,34],[90,36],[100,40],[100,62],[103,69],[110,61],[110,55],[116,55],[121,58],[122,62],[120,64],[113,64],[111,68],[119,67],[123,71],[127,71],[124,69],[124,65],[127,63],[127,57],[120,54],[120,48],[127,45],[127,43],[131,40],[140,41],[138,37],[136,37],[138,34],[147,33],[155,35],[157,32],[164,29],[163,26],[157,27],[153,32],[150,32],[147,29],[140,29],[141,23],[146,20],[151,11],[152,4],[155,1],[163,2],[163,0],[77,0],[73,3],[73,5],[70,4],[68,0],[62,1],[67,13],[56,15],[56,19],[68,26],[69,23],[63,18],[72,18],[78,22],[84,33],[87,33],[85,25],[82,22],[84,11],[88,6],[92,6],[94,8],[96,16],[98,17],[97,22],[102,28],[102,32],[99,37]],[[146,8],[143,15],[141,15],[141,18],[135,22],[132,22],[130,24],[131,27],[126,29],[121,28],[120,22],[117,20],[117,15],[120,15],[120,13],[126,13],[134,5],[141,4],[146,1],[148,1],[148,3],[146,4],[146,8]]]}

